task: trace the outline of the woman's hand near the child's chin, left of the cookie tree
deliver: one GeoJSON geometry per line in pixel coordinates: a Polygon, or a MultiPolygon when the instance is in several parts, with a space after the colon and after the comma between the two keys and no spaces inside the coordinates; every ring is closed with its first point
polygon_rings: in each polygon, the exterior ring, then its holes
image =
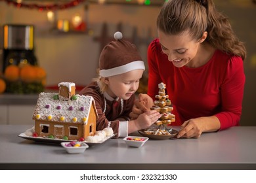
{"type": "Polygon", "coordinates": [[[135,100],[130,118],[132,120],[137,119],[140,114],[149,111],[153,105],[154,103],[150,96],[140,93],[138,99],[135,100]]]}

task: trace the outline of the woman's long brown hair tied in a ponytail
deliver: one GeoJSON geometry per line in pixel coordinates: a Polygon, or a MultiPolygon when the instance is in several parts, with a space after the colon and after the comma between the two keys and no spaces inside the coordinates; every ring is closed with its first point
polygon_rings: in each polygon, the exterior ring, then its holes
{"type": "Polygon", "coordinates": [[[217,11],[212,0],[169,0],[161,8],[157,27],[169,35],[188,31],[194,40],[199,40],[207,31],[209,44],[243,60],[246,57],[244,43],[239,41],[228,18],[217,11]]]}

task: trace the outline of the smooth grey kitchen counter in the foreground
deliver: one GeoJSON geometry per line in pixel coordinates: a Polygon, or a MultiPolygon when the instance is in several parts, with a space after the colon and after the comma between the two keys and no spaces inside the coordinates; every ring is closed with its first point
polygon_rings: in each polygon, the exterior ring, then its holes
{"type": "Polygon", "coordinates": [[[83,154],[18,137],[31,127],[0,125],[0,169],[256,169],[256,127],[203,133],[199,139],[149,140],[140,148],[110,139],[83,154]]]}

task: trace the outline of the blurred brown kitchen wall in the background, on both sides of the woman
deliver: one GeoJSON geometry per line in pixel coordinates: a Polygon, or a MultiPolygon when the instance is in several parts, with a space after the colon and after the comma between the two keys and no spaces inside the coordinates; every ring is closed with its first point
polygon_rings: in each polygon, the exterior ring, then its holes
{"type": "MultiPolygon", "coordinates": [[[[242,125],[256,125],[256,5],[252,1],[215,0],[217,8],[230,18],[234,31],[245,42],[247,59],[244,61],[246,83],[242,113],[242,125]]],[[[0,25],[34,24],[36,26],[35,54],[39,63],[47,70],[47,84],[72,81],[85,85],[95,77],[98,65],[100,43],[95,37],[100,36],[102,24],[108,22],[111,36],[116,31],[116,24],[123,23],[123,34],[131,37],[134,26],[140,37],[147,37],[148,29],[156,37],[155,24],[160,7],[135,7],[119,5],[90,5],[88,14],[83,6],[60,10],[58,18],[70,19],[75,13],[88,18],[93,35],[57,34],[49,32],[51,25],[47,22],[46,12],[17,9],[0,2],[0,25]]],[[[142,57],[146,60],[146,45],[140,46],[142,57]]]]}

